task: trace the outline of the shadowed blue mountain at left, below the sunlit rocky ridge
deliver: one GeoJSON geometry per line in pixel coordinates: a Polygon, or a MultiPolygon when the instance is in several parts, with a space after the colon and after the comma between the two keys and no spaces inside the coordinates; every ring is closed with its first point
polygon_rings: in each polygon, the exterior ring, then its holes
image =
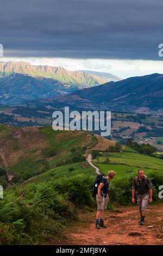
{"type": "Polygon", "coordinates": [[[28,100],[72,93],[77,89],[73,84],[70,86],[52,78],[14,73],[0,78],[0,103],[15,106],[28,100]]]}

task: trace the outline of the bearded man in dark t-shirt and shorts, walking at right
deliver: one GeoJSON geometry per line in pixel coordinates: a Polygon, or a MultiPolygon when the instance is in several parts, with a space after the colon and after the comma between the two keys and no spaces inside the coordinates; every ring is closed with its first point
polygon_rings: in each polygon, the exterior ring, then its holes
{"type": "Polygon", "coordinates": [[[144,174],[143,170],[138,170],[132,187],[132,203],[135,203],[135,192],[137,195],[137,205],[140,211],[140,225],[145,224],[145,216],[148,203],[152,203],[152,182],[144,174]]]}

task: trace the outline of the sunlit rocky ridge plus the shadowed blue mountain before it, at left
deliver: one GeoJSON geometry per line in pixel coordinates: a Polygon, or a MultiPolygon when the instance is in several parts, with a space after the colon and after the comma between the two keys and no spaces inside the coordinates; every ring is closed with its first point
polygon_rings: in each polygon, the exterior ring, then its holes
{"type": "Polygon", "coordinates": [[[102,77],[102,74],[97,76],[85,71],[68,71],[56,66],[0,62],[0,103],[18,105],[26,100],[54,97],[99,86],[110,79],[114,79],[114,75],[102,77]]]}

